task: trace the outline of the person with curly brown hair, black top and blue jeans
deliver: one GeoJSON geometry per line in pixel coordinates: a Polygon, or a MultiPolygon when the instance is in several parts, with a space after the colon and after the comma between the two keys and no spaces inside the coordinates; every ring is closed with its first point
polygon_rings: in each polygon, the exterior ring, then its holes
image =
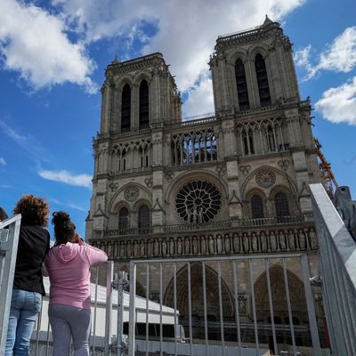
{"type": "Polygon", "coordinates": [[[25,195],[13,214],[21,214],[19,246],[13,278],[12,303],[5,356],[28,356],[29,338],[41,310],[44,284],[42,264],[50,248],[49,206],[43,198],[25,195]]]}

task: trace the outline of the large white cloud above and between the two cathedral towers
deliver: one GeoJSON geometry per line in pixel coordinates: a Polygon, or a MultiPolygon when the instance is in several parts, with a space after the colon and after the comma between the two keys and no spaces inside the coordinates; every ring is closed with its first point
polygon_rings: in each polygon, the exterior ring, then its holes
{"type": "MultiPolygon", "coordinates": [[[[198,79],[208,74],[207,61],[218,35],[260,25],[266,13],[272,20],[281,20],[304,3],[305,0],[137,0],[133,6],[129,1],[53,0],[71,26],[85,33],[87,43],[109,36],[125,36],[132,43],[130,28],[140,28],[138,24],[143,22],[153,24],[158,30],[150,40],[147,36],[141,38],[140,31],[134,32],[142,44],[146,43],[142,54],[163,53],[176,75],[179,90],[190,91],[190,95],[205,90],[206,79],[201,83],[198,79]]],[[[187,106],[193,109],[191,101],[187,106]]],[[[184,112],[193,115],[188,109],[184,112]]]]}

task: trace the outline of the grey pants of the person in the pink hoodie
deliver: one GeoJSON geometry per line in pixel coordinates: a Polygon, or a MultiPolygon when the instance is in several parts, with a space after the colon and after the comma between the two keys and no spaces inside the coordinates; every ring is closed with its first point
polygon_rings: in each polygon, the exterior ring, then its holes
{"type": "Polygon", "coordinates": [[[74,356],[89,356],[90,309],[50,304],[53,356],[66,356],[73,338],[74,356]]]}

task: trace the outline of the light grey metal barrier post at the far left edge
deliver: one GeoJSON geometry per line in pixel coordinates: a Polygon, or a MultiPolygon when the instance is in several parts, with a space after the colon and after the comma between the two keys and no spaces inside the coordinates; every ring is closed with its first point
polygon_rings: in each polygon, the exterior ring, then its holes
{"type": "Polygon", "coordinates": [[[0,355],[4,355],[21,215],[0,222],[0,355]]]}

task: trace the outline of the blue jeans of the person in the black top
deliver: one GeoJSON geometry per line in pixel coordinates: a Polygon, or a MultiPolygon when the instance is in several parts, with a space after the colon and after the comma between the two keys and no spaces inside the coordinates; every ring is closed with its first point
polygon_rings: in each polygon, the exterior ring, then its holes
{"type": "Polygon", "coordinates": [[[12,289],[9,327],[5,356],[28,356],[29,339],[42,306],[42,295],[22,289],[12,289]]]}

